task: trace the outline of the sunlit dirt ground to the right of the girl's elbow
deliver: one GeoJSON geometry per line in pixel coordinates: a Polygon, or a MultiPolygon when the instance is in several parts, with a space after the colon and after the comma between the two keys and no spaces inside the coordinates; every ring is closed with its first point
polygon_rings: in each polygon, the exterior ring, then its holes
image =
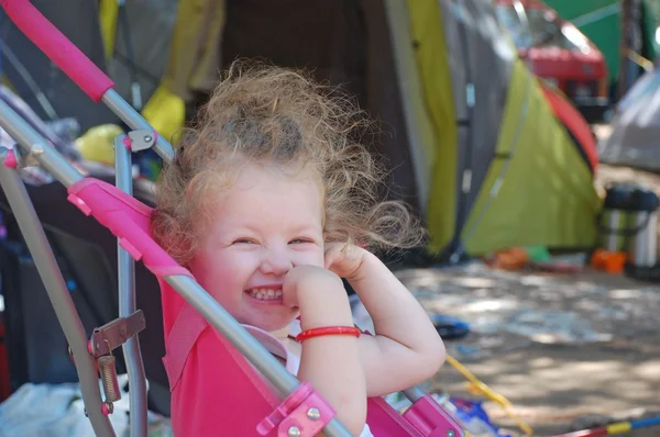
{"type": "MultiPolygon", "coordinates": [[[[602,165],[598,189],[614,180],[660,194],[659,175],[602,165]]],[[[593,270],[497,271],[481,262],[398,274],[429,312],[471,323],[469,337],[447,341],[449,354],[505,395],[535,436],[582,429],[592,418],[660,416],[660,284],[593,270]]],[[[449,363],[432,388],[474,399],[449,363]]],[[[515,430],[503,410],[485,406],[515,430]]],[[[622,435],[658,436],[660,427],[622,435]]]]}

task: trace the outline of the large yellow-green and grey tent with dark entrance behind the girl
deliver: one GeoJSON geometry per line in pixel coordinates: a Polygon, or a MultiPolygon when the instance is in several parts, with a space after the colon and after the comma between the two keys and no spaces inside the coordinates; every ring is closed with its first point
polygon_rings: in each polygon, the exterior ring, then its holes
{"type": "MultiPolygon", "coordinates": [[[[33,3],[103,65],[128,101],[139,83],[136,101],[167,136],[239,56],[310,68],[344,87],[382,122],[384,134],[367,146],[389,159],[392,195],[425,218],[432,251],[594,244],[600,199],[581,145],[553,116],[488,1],[33,3]]],[[[8,25],[3,37],[62,116],[81,116],[86,128],[113,122],[90,111],[94,103],[20,32],[8,25]]]]}

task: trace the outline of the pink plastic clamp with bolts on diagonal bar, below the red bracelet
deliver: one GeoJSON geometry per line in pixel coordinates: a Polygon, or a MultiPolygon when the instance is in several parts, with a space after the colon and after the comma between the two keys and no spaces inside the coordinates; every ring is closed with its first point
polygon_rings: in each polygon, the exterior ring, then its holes
{"type": "Polygon", "coordinates": [[[277,426],[278,437],[311,437],[320,433],[334,414],[311,384],[304,382],[256,426],[256,432],[265,436],[277,426]]]}

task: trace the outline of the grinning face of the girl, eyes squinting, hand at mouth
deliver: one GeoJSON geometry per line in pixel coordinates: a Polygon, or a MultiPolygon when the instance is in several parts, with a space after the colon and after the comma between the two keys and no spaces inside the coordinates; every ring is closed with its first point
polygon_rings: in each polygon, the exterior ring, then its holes
{"type": "Polygon", "coordinates": [[[280,329],[297,315],[282,303],[286,273],[323,266],[319,186],[308,172],[287,177],[248,166],[219,195],[191,272],[239,322],[280,329]]]}

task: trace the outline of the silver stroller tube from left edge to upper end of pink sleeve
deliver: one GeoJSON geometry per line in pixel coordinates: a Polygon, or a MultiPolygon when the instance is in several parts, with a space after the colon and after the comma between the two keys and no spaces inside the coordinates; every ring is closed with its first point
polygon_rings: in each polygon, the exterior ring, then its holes
{"type": "Polygon", "coordinates": [[[21,145],[25,154],[32,153],[41,166],[65,187],[82,179],[80,171],[1,99],[0,126],[21,145]]]}

